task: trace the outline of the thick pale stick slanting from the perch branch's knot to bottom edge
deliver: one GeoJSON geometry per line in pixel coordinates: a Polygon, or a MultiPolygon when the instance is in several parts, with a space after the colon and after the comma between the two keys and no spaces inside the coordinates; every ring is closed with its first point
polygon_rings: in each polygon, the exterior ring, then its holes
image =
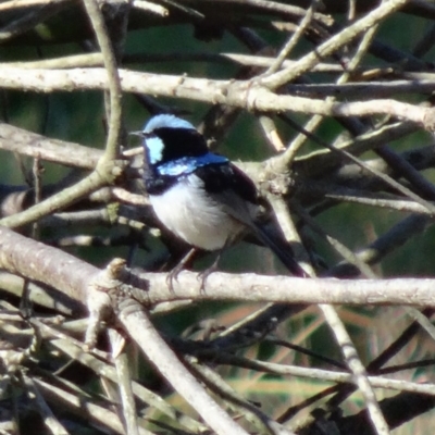
{"type": "Polygon", "coordinates": [[[156,331],[144,308],[132,299],[120,303],[119,321],[142,352],[171,385],[196,409],[210,427],[219,435],[248,435],[207,394],[204,388],[182,364],[174,351],[156,331]]]}

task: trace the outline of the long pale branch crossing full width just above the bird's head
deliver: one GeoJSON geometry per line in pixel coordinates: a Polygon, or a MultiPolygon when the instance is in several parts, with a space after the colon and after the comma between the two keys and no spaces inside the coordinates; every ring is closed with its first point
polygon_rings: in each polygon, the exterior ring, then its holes
{"type": "MultiPolygon", "coordinates": [[[[276,95],[258,84],[244,80],[212,80],[184,75],[164,75],[119,70],[124,91],[187,98],[213,104],[228,104],[262,112],[294,111],[327,116],[368,116],[387,114],[402,117],[427,129],[434,128],[433,108],[393,99],[330,102],[290,95],[276,95]]],[[[76,89],[108,89],[107,71],[102,69],[26,70],[0,67],[3,88],[52,92],[76,89]]]]}

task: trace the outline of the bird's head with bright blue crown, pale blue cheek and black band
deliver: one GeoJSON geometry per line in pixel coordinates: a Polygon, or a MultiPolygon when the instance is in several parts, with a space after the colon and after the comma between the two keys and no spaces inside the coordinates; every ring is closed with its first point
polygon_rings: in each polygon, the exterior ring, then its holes
{"type": "Polygon", "coordinates": [[[174,115],[151,117],[141,132],[146,160],[159,165],[184,157],[200,157],[209,152],[203,136],[188,121],[174,115]]]}

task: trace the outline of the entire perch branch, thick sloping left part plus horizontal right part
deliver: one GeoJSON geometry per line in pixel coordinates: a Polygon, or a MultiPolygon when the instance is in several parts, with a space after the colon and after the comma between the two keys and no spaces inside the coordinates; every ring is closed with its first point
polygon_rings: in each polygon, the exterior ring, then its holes
{"type": "MultiPolygon", "coordinates": [[[[85,301],[89,281],[100,272],[97,268],[73,256],[28,239],[0,226],[0,268],[18,273],[58,288],[76,301],[85,301]],[[28,261],[28,252],[33,261],[28,261]]],[[[165,273],[142,273],[132,277],[129,284],[147,291],[139,291],[145,303],[162,301],[200,300],[251,300],[288,303],[401,303],[435,307],[434,279],[393,278],[360,282],[339,279],[303,279],[288,276],[256,274],[232,275],[214,273],[207,282],[207,294],[201,295],[197,274],[182,272],[179,282],[171,293],[165,273]],[[145,287],[145,283],[147,286],[145,287]],[[237,293],[234,288],[238,288],[237,293]]],[[[99,291],[101,293],[101,291],[99,291]]],[[[261,328],[260,328],[261,330],[261,328]]]]}

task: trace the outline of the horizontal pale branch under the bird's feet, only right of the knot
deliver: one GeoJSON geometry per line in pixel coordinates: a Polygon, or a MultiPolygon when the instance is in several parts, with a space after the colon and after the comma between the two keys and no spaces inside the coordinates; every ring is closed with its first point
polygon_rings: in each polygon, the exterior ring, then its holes
{"type": "MultiPolygon", "coordinates": [[[[147,291],[137,295],[144,303],[172,300],[233,300],[259,302],[331,303],[331,304],[405,304],[435,307],[434,278],[388,279],[325,279],[299,278],[284,275],[264,276],[254,273],[233,275],[223,272],[211,274],[206,293],[201,295],[197,274],[181,272],[174,283],[174,293],[165,285],[165,273],[141,273],[134,278],[148,281],[147,291]],[[237,288],[237,291],[234,291],[237,288]]],[[[260,328],[261,330],[261,328],[260,328]]]]}

